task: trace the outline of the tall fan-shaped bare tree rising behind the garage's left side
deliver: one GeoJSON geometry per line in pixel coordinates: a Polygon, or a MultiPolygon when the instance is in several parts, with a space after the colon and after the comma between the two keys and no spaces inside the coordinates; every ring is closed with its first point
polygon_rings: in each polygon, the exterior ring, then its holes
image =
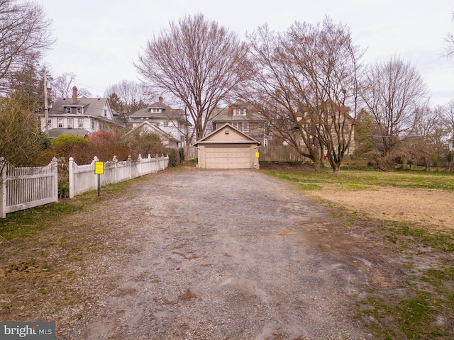
{"type": "Polygon", "coordinates": [[[196,14],[150,40],[135,67],[156,91],[183,103],[198,140],[214,108],[247,77],[247,52],[235,33],[196,14]]]}

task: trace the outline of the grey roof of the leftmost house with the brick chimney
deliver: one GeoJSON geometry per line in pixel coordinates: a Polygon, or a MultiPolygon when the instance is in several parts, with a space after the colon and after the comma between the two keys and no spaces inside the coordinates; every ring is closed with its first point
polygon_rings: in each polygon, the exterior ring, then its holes
{"type": "MultiPolygon", "coordinates": [[[[72,102],[72,98],[57,98],[53,103],[52,108],[49,110],[50,115],[60,115],[65,113],[65,106],[79,106],[84,108],[84,115],[90,115],[92,117],[104,117],[104,109],[109,106],[107,98],[77,98],[77,103],[72,102]]],[[[109,106],[110,107],[110,106],[109,106]]],[[[112,114],[116,112],[111,111],[112,114]]]]}

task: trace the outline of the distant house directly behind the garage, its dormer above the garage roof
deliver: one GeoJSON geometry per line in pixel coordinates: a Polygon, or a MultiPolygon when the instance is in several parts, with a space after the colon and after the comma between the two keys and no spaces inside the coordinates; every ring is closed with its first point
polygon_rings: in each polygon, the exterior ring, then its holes
{"type": "Polygon", "coordinates": [[[258,140],[265,147],[270,139],[269,124],[263,115],[250,103],[236,101],[226,108],[218,108],[214,111],[212,128],[217,130],[228,123],[245,134],[258,140]]]}

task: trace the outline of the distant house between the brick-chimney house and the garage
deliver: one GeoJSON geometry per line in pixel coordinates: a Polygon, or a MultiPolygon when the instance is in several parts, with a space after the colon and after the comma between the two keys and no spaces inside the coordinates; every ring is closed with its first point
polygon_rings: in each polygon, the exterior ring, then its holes
{"type": "MultiPolygon", "coordinates": [[[[172,137],[173,140],[177,140],[177,147],[184,145],[188,130],[192,126],[183,110],[165,105],[162,102],[162,97],[159,97],[156,103],[132,113],[129,116],[128,123],[133,128],[138,128],[140,125],[149,128],[150,125],[154,125],[158,130],[172,137]],[[145,122],[148,122],[148,125],[144,125],[145,122]]],[[[173,141],[170,141],[170,145],[172,143],[173,141]]]]}

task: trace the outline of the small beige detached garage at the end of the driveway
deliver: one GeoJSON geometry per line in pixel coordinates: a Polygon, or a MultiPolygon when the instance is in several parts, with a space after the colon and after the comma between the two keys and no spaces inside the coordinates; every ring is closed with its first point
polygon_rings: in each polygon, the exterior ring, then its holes
{"type": "Polygon", "coordinates": [[[260,142],[230,124],[222,125],[194,145],[198,149],[199,168],[259,169],[260,142]]]}

